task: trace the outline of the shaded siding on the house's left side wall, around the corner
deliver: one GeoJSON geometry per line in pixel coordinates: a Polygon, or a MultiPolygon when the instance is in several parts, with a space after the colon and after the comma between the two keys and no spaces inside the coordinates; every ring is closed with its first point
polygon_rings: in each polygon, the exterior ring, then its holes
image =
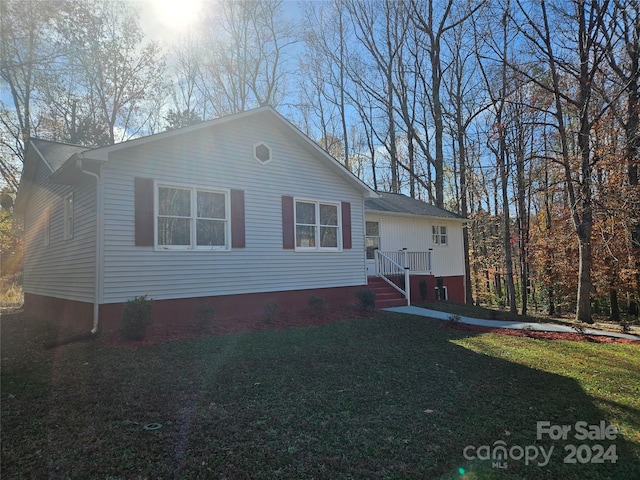
{"type": "MultiPolygon", "coordinates": [[[[25,211],[24,291],[93,302],[95,297],[95,181],[55,185],[40,163],[25,211]],[[73,194],[73,237],[65,239],[65,198],[73,194]],[[49,209],[49,245],[45,246],[49,209]]],[[[67,217],[68,218],[68,217],[67,217]]]]}

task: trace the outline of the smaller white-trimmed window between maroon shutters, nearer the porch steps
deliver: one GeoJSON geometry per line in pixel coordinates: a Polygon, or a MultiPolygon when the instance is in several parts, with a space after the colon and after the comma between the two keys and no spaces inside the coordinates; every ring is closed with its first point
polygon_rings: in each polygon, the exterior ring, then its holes
{"type": "Polygon", "coordinates": [[[296,250],[339,250],[340,204],[296,200],[296,250]]]}

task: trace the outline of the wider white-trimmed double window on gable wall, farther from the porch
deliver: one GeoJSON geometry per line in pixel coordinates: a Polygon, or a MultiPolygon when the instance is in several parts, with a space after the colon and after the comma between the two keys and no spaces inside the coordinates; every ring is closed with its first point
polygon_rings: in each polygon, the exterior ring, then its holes
{"type": "Polygon", "coordinates": [[[229,248],[227,191],[159,184],[155,212],[157,248],[229,248]]]}

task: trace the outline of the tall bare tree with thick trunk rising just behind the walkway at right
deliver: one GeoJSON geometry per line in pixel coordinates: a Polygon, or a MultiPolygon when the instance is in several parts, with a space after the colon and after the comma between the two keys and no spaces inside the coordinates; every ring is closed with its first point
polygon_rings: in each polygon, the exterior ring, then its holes
{"type": "MultiPolygon", "coordinates": [[[[553,115],[558,131],[560,152],[558,162],[564,180],[574,232],[578,239],[579,270],[576,320],[592,323],[591,319],[591,235],[593,228],[591,131],[603,111],[596,105],[594,79],[606,57],[602,25],[609,8],[608,0],[573,0],[554,2],[547,6],[540,0],[537,9],[523,0],[516,0],[523,20],[521,32],[536,58],[546,65],[549,75],[529,76],[554,98],[553,115]],[[563,26],[569,28],[563,28],[563,26]],[[563,35],[565,46],[558,43],[563,35]],[[577,53],[577,56],[575,53],[577,53]],[[571,82],[574,88],[567,88],[571,82]],[[576,155],[571,151],[572,132],[567,118],[577,120],[576,155]],[[577,172],[575,174],[574,172],[577,172]]],[[[521,73],[523,72],[520,69],[521,73]]]]}

